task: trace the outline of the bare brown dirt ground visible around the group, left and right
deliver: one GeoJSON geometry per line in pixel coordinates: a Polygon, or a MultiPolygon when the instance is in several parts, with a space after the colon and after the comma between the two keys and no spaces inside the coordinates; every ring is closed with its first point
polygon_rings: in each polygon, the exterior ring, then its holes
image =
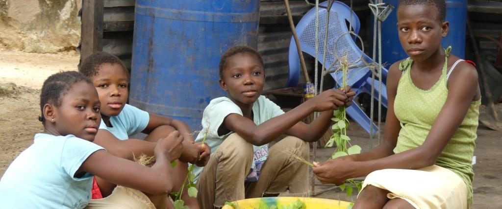
{"type": "MultiPolygon", "coordinates": [[[[43,130],[37,120],[40,115],[39,94],[43,81],[59,71],[76,70],[79,55],[31,54],[0,51],[0,83],[14,82],[20,88],[7,96],[0,95],[0,176],[14,158],[33,143],[33,135],[43,130]]],[[[353,123],[352,123],[353,124],[353,123]]],[[[368,134],[351,126],[353,144],[369,149],[368,134]]],[[[502,132],[478,129],[477,162],[474,167],[474,208],[502,208],[502,132]]],[[[378,144],[376,140],[373,145],[378,144]]],[[[317,160],[326,160],[332,150],[317,149],[317,160]]],[[[312,152],[311,152],[312,153],[312,152]]],[[[311,158],[312,159],[312,158],[311,158]]],[[[316,197],[351,201],[339,188],[316,181],[316,197]],[[332,189],[330,189],[332,188],[332,189]],[[327,190],[327,191],[326,191],[327,190]],[[319,194],[319,192],[325,191],[319,194]]],[[[356,192],[354,192],[356,193],[356,192]]],[[[286,194],[282,194],[286,195],[286,194]]]]}

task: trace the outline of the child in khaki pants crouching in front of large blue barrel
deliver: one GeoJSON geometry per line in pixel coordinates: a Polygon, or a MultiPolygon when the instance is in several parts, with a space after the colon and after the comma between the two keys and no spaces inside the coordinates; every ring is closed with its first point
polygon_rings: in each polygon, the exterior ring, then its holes
{"type": "Polygon", "coordinates": [[[233,47],[221,57],[220,86],[228,97],[211,100],[202,116],[196,141],[211,145],[208,164],[196,167],[197,196],[202,208],[221,207],[225,201],[308,192],[308,166],[287,150],[309,157],[307,142],[317,141],[330,127],[333,110],[350,105],[354,92],[330,89],[287,113],[262,96],[265,69],[253,48],[233,47]],[[322,114],[310,124],[301,122],[313,112],[322,114]],[[289,135],[269,150],[268,144],[289,135]]]}

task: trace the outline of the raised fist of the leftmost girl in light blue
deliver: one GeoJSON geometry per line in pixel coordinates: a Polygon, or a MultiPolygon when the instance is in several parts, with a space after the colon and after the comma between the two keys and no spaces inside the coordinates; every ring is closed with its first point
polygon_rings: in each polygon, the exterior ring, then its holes
{"type": "Polygon", "coordinates": [[[171,132],[166,138],[159,139],[155,146],[155,157],[168,157],[172,162],[181,156],[183,136],[179,131],[171,132]]]}

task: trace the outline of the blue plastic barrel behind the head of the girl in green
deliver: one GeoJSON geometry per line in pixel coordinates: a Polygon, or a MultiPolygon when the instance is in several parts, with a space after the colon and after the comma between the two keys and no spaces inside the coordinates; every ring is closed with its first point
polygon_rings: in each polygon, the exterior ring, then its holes
{"type": "MultiPolygon", "coordinates": [[[[382,62],[392,65],[401,59],[407,58],[408,55],[401,47],[396,27],[399,0],[384,2],[395,7],[389,17],[382,23],[382,62]]],[[[451,53],[462,59],[465,57],[466,17],[467,0],[446,1],[446,21],[450,22],[450,29],[448,35],[441,41],[441,45],[444,48],[452,46],[451,53]]]]}

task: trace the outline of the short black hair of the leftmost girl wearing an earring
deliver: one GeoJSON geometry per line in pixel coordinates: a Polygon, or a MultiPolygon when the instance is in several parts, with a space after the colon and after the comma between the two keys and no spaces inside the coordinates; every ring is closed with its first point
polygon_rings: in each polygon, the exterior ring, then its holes
{"type": "Polygon", "coordinates": [[[40,93],[40,110],[42,111],[42,116],[39,116],[38,120],[45,125],[44,105],[61,106],[61,98],[71,89],[73,84],[78,82],[86,82],[92,85],[91,79],[76,71],[60,72],[49,76],[44,81],[42,92],[40,93]]]}

